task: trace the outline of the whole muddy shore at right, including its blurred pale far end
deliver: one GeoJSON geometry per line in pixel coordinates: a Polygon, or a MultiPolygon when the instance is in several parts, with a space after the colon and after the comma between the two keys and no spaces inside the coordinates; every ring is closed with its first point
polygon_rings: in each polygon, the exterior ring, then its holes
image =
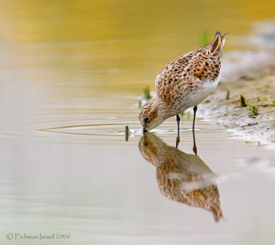
{"type": "Polygon", "coordinates": [[[245,141],[275,148],[275,21],[255,23],[253,29],[232,37],[236,51],[225,52],[221,82],[199,113],[245,141]]]}

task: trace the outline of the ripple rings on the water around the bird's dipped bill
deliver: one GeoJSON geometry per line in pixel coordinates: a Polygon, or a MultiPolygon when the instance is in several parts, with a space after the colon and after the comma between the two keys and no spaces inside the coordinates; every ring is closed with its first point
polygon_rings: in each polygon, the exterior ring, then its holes
{"type": "MultiPolygon", "coordinates": [[[[83,143],[124,143],[125,126],[128,125],[130,132],[129,141],[137,141],[142,136],[142,128],[135,118],[123,119],[118,117],[91,119],[87,123],[87,119],[66,120],[66,121],[47,121],[39,127],[40,135],[52,137],[53,139],[62,141],[78,141],[83,143]],[[102,123],[102,121],[105,121],[102,123]]],[[[36,125],[37,127],[37,125],[36,125]]],[[[152,130],[157,135],[164,137],[177,137],[175,121],[169,119],[164,124],[152,130]]],[[[219,130],[203,121],[196,122],[196,136],[208,134],[208,141],[219,138],[219,130]]],[[[192,134],[192,121],[181,120],[181,137],[190,136],[192,134]]],[[[200,137],[200,136],[199,136],[200,137]]],[[[203,137],[201,137],[203,139],[203,137]]]]}

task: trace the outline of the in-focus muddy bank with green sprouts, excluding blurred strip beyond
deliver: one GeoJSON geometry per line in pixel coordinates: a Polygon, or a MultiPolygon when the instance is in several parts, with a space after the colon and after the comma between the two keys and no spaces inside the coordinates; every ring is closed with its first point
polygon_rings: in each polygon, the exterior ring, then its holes
{"type": "Polygon", "coordinates": [[[223,124],[245,141],[275,146],[275,60],[221,80],[201,104],[201,115],[223,124]],[[273,65],[274,64],[274,65],[273,65]],[[241,104],[240,95],[245,98],[241,104]]]}

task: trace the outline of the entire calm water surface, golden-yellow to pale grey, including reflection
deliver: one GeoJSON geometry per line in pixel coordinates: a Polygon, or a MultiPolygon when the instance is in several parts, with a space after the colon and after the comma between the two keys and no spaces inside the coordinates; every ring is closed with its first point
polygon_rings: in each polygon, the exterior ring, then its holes
{"type": "Polygon", "coordinates": [[[273,152],[198,118],[195,156],[188,113],[178,149],[175,119],[141,132],[138,96],[168,60],[217,18],[234,40],[274,9],[197,3],[1,3],[1,244],[274,244],[273,152]],[[176,198],[191,193],[204,201],[176,198]]]}

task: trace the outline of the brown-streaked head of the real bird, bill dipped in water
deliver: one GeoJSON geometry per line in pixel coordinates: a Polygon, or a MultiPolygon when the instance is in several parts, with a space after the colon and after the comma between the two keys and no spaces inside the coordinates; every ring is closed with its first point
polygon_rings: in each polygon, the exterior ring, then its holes
{"type": "Polygon", "coordinates": [[[143,131],[150,131],[153,128],[162,124],[167,119],[168,112],[164,108],[162,103],[159,103],[157,97],[148,100],[140,110],[140,124],[143,127],[143,131]]]}

